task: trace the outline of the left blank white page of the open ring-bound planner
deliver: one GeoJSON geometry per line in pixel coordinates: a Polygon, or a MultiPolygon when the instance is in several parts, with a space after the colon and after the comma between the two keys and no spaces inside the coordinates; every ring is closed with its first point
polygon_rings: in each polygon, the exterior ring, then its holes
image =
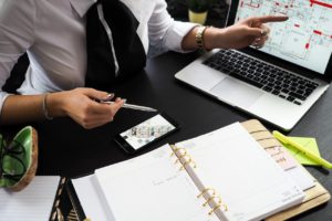
{"type": "MultiPolygon", "coordinates": [[[[95,171],[117,221],[216,221],[168,145],[95,171]]],[[[93,218],[92,218],[93,219],[93,218]]]]}

